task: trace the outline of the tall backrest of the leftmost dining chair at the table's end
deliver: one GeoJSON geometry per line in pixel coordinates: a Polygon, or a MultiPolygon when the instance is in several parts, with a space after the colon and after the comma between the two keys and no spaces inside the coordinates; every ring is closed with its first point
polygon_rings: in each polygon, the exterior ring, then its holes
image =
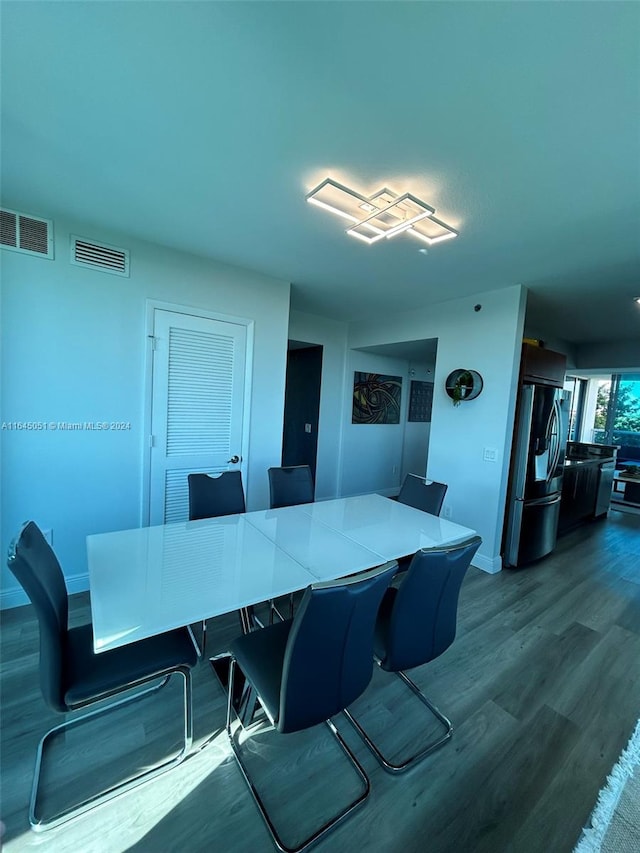
{"type": "Polygon", "coordinates": [[[66,711],[64,646],[69,599],[60,563],[35,522],[23,525],[9,548],[7,565],[38,617],[42,695],[51,708],[66,711]]]}

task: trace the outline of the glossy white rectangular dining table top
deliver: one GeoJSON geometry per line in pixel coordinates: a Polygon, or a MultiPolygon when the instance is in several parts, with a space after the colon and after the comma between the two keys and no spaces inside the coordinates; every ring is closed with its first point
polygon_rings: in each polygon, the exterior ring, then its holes
{"type": "Polygon", "coordinates": [[[96,652],[475,535],[381,495],[87,537],[96,652]]]}

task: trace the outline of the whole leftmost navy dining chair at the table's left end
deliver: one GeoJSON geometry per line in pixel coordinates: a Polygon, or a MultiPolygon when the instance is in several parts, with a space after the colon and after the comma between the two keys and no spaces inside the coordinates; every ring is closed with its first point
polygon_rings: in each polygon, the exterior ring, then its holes
{"type": "MultiPolygon", "coordinates": [[[[191,667],[197,654],[187,629],[179,629],[131,643],[122,648],[95,654],[91,623],[70,628],[68,595],[64,575],[56,555],[38,526],[29,521],[9,549],[7,565],[29,596],[38,617],[40,631],[40,685],[47,705],[59,713],[75,712],[113,698],[99,710],[74,716],[48,731],[38,746],[29,822],[33,829],[57,826],[117,794],[147,781],[179,764],[192,742],[191,667]],[[39,815],[39,783],[46,745],[56,734],[65,734],[90,718],[109,714],[114,708],[155,693],[169,677],[180,675],[184,683],[184,743],[173,758],[155,767],[145,767],[96,796],[87,796],[60,809],[51,818],[39,815]],[[151,684],[157,682],[157,684],[151,684]],[[145,685],[147,685],[145,687],[145,685]],[[131,695],[132,688],[145,689],[131,695]],[[122,698],[120,694],[128,691],[122,698]]],[[[167,709],[167,714],[172,713],[167,709]]],[[[136,729],[139,726],[136,724],[136,729]]],[[[77,747],[76,747],[77,748],[77,747]]]]}

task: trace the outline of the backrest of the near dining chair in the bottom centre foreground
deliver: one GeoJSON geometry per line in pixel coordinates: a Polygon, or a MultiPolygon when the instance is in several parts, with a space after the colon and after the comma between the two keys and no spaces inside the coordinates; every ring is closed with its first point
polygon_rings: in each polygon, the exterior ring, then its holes
{"type": "Polygon", "coordinates": [[[396,570],[393,561],[307,587],[285,650],[279,731],[328,720],[365,690],[373,673],[378,608],[396,570]]]}

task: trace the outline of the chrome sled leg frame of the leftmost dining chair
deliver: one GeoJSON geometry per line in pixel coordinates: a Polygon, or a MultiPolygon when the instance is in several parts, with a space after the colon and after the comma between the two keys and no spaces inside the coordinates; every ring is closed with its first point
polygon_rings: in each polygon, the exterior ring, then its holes
{"type": "MultiPolygon", "coordinates": [[[[154,681],[157,679],[154,678],[154,681]]],[[[146,683],[146,682],[145,682],[146,683]]],[[[134,685],[135,686],[135,685],[134,685]]],[[[161,681],[159,684],[154,684],[152,687],[148,687],[139,693],[136,693],[133,696],[127,696],[123,699],[118,700],[117,702],[113,702],[108,705],[106,708],[99,708],[95,711],[90,711],[87,714],[83,714],[80,717],[75,719],[70,719],[61,723],[59,726],[55,726],[44,735],[38,744],[38,751],[36,754],[36,766],[33,777],[33,785],[31,787],[31,799],[29,802],[29,823],[34,831],[43,832],[48,829],[53,829],[56,826],[60,826],[62,823],[66,823],[68,820],[72,820],[75,817],[78,817],[81,814],[89,811],[92,808],[95,808],[102,803],[105,803],[114,797],[119,796],[120,794],[124,794],[127,791],[130,791],[132,788],[141,785],[143,782],[146,782],[148,779],[152,779],[154,776],[159,776],[161,773],[170,770],[172,767],[180,764],[187,757],[191,750],[191,744],[193,742],[193,712],[192,712],[192,697],[191,697],[191,672],[188,668],[181,668],[173,670],[171,673],[168,673],[166,676],[161,677],[161,681]],[[160,764],[152,767],[148,770],[144,770],[141,773],[138,773],[136,776],[125,782],[119,782],[116,785],[112,785],[110,788],[107,788],[105,791],[101,792],[95,797],[91,797],[89,799],[83,800],[82,802],[70,806],[69,808],[64,809],[62,812],[59,812],[50,820],[44,820],[37,815],[37,800],[38,800],[38,787],[40,783],[40,772],[42,769],[42,761],[44,757],[45,743],[46,741],[54,735],[56,732],[61,731],[69,731],[72,728],[75,728],[82,723],[93,717],[99,717],[102,715],[108,714],[110,711],[113,711],[114,708],[122,707],[123,705],[128,705],[132,702],[137,701],[138,699],[146,696],[150,693],[156,693],[165,684],[169,681],[169,678],[172,675],[181,675],[184,682],[184,691],[183,691],[183,701],[184,701],[184,744],[182,750],[178,753],[174,758],[168,759],[167,761],[163,761],[160,764]]]]}

